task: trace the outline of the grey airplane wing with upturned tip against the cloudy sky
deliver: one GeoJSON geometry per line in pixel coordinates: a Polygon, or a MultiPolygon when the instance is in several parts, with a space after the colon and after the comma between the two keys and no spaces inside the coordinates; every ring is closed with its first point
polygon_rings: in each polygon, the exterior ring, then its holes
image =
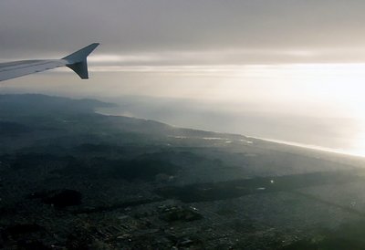
{"type": "Polygon", "coordinates": [[[91,44],[68,55],[68,57],[56,60],[25,60],[0,63],[0,81],[65,66],[75,71],[80,78],[87,79],[89,78],[87,57],[98,46],[98,43],[91,44]]]}

